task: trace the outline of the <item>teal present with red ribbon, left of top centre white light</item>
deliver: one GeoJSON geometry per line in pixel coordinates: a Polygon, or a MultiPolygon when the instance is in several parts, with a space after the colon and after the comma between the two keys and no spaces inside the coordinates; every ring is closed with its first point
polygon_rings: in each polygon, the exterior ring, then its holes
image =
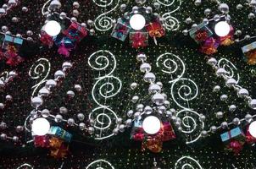
{"type": "Polygon", "coordinates": [[[111,33],[111,36],[119,39],[120,41],[125,41],[130,31],[130,25],[126,23],[125,20],[119,19],[111,33]]]}

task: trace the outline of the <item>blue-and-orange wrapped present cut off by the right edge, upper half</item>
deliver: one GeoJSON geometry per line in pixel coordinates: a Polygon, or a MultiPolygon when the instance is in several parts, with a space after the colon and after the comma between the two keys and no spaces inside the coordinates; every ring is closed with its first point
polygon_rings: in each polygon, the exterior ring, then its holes
{"type": "Polygon", "coordinates": [[[247,46],[243,46],[242,52],[244,54],[244,59],[248,64],[256,65],[256,41],[247,46]]]}

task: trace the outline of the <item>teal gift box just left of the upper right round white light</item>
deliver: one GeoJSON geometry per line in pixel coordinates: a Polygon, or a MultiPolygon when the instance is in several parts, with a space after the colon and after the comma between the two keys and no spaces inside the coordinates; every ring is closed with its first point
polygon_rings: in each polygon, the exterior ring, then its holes
{"type": "MultiPolygon", "coordinates": [[[[189,35],[192,37],[193,40],[195,40],[197,43],[203,42],[203,41],[199,41],[197,39],[197,35],[198,32],[202,31],[202,32],[206,32],[207,33],[207,38],[211,37],[214,35],[214,33],[212,32],[212,30],[209,29],[209,27],[204,24],[201,23],[197,26],[197,28],[190,30],[189,35]]],[[[205,41],[205,40],[204,40],[205,41]]]]}

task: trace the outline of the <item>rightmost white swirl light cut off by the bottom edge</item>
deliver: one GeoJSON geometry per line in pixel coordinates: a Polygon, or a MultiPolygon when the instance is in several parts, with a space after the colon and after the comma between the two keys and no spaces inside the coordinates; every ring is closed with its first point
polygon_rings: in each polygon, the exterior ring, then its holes
{"type": "Polygon", "coordinates": [[[203,169],[199,162],[190,156],[182,156],[178,161],[175,162],[175,169],[184,168],[203,169]]]}

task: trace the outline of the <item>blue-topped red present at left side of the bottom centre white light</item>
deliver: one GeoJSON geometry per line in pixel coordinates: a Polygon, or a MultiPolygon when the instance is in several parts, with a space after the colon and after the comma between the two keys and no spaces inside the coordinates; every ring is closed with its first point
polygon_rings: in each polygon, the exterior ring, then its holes
{"type": "Polygon", "coordinates": [[[144,129],[142,128],[142,121],[135,120],[131,131],[131,139],[142,141],[145,139],[144,129]]]}

